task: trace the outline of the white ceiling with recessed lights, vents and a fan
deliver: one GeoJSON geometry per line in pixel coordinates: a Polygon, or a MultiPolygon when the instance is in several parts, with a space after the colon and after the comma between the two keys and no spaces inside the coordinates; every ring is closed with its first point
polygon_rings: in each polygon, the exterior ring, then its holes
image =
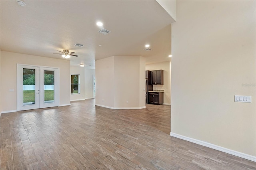
{"type": "Polygon", "coordinates": [[[147,64],[170,61],[173,20],[155,0],[24,2],[0,1],[2,51],[63,59],[53,53],[68,49],[78,55],[70,65],[86,67],[113,55],[141,55],[147,64]],[[97,21],[111,33],[98,33],[97,21]],[[144,50],[147,43],[151,51],[144,50]]]}

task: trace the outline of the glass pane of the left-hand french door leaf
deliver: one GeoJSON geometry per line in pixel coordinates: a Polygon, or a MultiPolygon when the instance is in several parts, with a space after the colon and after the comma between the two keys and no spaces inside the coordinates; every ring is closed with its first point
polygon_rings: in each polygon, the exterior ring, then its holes
{"type": "Polygon", "coordinates": [[[23,68],[23,106],[35,104],[35,69],[23,68]]]}

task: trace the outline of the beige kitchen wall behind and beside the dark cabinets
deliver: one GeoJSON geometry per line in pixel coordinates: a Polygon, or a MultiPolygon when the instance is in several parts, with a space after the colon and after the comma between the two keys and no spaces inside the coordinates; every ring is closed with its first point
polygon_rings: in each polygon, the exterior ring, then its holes
{"type": "Polygon", "coordinates": [[[146,70],[164,70],[164,85],[153,85],[153,90],[164,90],[164,105],[171,104],[170,65],[170,61],[146,65],[146,70]]]}

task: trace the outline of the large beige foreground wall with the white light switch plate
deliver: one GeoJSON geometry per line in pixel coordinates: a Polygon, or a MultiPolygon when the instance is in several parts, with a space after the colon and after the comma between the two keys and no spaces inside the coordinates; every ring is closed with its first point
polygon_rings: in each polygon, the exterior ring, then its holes
{"type": "Polygon", "coordinates": [[[176,1],[176,16],[171,132],[256,156],[256,1],[176,1]]]}

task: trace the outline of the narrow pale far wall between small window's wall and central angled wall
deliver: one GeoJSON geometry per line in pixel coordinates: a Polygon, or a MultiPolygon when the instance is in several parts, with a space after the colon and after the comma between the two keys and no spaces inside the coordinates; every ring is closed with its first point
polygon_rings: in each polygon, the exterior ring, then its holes
{"type": "Polygon", "coordinates": [[[85,72],[85,99],[91,99],[93,96],[92,75],[95,75],[95,69],[84,69],[85,72]]]}

